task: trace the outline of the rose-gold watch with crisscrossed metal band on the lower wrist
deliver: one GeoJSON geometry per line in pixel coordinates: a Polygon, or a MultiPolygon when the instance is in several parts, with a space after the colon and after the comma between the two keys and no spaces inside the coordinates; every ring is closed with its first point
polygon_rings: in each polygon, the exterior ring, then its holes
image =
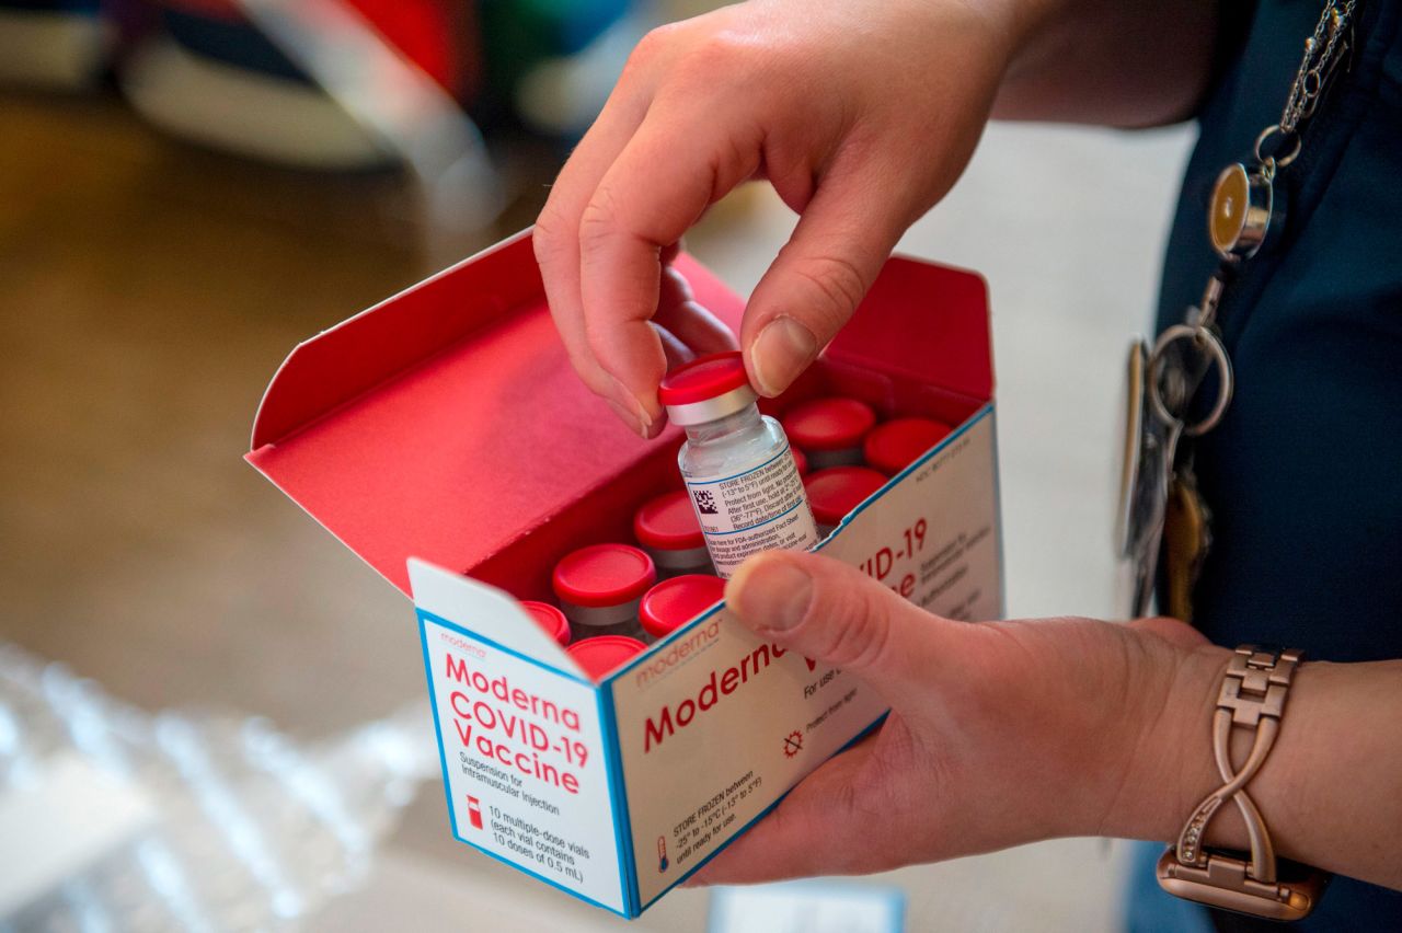
{"type": "Polygon", "coordinates": [[[1210,906],[1239,911],[1274,920],[1297,920],[1309,913],[1323,892],[1326,876],[1302,870],[1301,877],[1277,877],[1270,832],[1246,794],[1270,754],[1286,696],[1301,651],[1272,650],[1242,644],[1232,654],[1213,712],[1213,754],[1223,786],[1207,794],[1187,817],[1178,842],[1158,860],[1158,883],[1169,894],[1210,906]],[[1241,768],[1231,761],[1232,731],[1249,730],[1251,752],[1241,768]],[[1203,845],[1207,825],[1227,800],[1237,804],[1246,824],[1251,857],[1209,849],[1203,845]]]}

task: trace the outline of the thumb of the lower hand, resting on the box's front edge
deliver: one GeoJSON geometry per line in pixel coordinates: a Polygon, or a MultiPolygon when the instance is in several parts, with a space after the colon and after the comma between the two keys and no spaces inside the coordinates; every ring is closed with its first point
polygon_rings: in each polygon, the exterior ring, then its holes
{"type": "Polygon", "coordinates": [[[901,707],[928,699],[941,660],[963,623],[907,602],[833,558],[768,551],[740,565],[725,586],[749,629],[805,657],[850,670],[901,707]]]}

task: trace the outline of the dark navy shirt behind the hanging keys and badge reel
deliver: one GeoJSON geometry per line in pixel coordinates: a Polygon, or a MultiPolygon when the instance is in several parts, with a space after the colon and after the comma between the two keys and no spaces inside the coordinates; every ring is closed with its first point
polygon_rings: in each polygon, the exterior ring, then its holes
{"type": "MultiPolygon", "coordinates": [[[[1206,219],[1213,182],[1280,118],[1321,8],[1321,0],[1262,0],[1224,60],[1169,238],[1161,328],[1202,294],[1217,263],[1206,219]]],[[[1195,622],[1223,646],[1402,658],[1399,18],[1402,1],[1360,0],[1350,69],[1276,181],[1283,235],[1242,266],[1220,308],[1237,385],[1221,424],[1196,445],[1213,545],[1195,622]]],[[[1402,726],[1396,734],[1402,741],[1402,726]]],[[[1224,913],[1214,922],[1258,926],[1224,913]]],[[[1402,930],[1402,894],[1336,878],[1293,929],[1402,930]]]]}

